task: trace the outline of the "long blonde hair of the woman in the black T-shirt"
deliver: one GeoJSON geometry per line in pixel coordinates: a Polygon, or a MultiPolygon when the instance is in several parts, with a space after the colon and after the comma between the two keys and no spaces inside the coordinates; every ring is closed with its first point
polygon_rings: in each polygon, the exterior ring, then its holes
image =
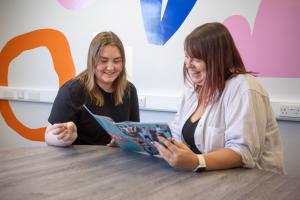
{"type": "Polygon", "coordinates": [[[126,92],[129,92],[125,68],[124,46],[115,33],[110,31],[101,32],[94,37],[90,44],[87,57],[87,68],[77,76],[77,79],[82,82],[85,92],[97,106],[104,105],[104,97],[95,80],[95,68],[99,62],[102,49],[107,45],[117,47],[122,58],[122,71],[112,85],[115,105],[122,104],[123,96],[126,92]]]}

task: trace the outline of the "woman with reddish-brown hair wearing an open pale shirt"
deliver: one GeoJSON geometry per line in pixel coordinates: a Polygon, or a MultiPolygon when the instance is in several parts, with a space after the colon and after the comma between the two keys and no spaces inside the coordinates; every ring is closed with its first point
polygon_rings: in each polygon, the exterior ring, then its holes
{"type": "Polygon", "coordinates": [[[170,125],[174,140],[160,137],[161,156],[193,171],[235,167],[283,173],[279,129],[267,92],[247,72],[221,23],[197,27],[185,39],[187,89],[170,125]]]}

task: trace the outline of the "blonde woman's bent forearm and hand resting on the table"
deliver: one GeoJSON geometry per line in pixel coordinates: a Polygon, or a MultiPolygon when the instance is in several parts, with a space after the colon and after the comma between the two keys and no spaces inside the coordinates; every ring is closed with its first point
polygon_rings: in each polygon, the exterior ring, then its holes
{"type": "Polygon", "coordinates": [[[46,129],[46,142],[55,146],[71,145],[77,138],[77,127],[74,122],[49,124],[46,129]],[[53,140],[56,137],[57,142],[53,140]]]}

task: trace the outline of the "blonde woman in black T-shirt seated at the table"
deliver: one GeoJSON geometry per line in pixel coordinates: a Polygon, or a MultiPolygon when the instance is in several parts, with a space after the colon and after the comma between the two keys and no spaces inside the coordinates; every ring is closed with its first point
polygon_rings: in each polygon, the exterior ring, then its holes
{"type": "Polygon", "coordinates": [[[136,88],[126,77],[124,47],[113,32],[94,37],[87,69],[59,89],[48,119],[47,144],[114,145],[83,105],[116,122],[140,120],[136,88]]]}

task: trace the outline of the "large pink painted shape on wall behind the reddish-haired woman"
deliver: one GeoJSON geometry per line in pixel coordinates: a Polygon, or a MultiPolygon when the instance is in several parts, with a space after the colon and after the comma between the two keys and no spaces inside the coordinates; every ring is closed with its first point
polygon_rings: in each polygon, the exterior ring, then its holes
{"type": "Polygon", "coordinates": [[[263,77],[300,78],[300,1],[261,0],[253,33],[242,16],[224,21],[247,70],[263,77]]]}

